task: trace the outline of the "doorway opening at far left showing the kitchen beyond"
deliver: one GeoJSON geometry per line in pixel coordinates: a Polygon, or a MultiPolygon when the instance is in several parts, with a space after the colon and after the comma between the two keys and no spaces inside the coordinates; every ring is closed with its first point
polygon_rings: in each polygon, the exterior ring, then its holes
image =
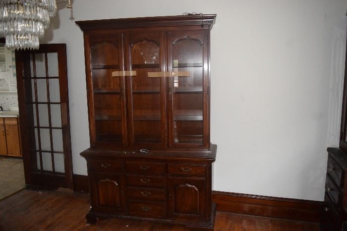
{"type": "Polygon", "coordinates": [[[24,188],[15,54],[0,39],[0,200],[24,188]]]}

